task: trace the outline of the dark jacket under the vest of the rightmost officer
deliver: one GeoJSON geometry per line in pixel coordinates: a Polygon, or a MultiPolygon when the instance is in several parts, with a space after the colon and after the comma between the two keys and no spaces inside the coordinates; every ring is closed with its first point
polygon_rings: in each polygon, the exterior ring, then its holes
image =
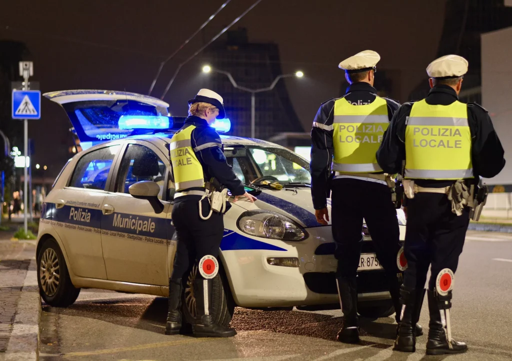
{"type": "MultiPolygon", "coordinates": [[[[455,90],[447,85],[432,88],[425,98],[430,105],[450,105],[458,100],[455,90]]],[[[377,162],[386,173],[401,173],[402,160],[406,158],[406,120],[411,114],[414,102],[403,104],[393,116],[391,124],[384,134],[380,148],[377,151],[377,162]]],[[[473,174],[478,183],[479,176],[491,178],[497,175],[505,166],[503,147],[494,130],[487,111],[481,106],[469,103],[467,105],[467,122],[472,138],[473,174]]],[[[420,187],[445,187],[453,181],[431,181],[418,179],[420,187]]]]}

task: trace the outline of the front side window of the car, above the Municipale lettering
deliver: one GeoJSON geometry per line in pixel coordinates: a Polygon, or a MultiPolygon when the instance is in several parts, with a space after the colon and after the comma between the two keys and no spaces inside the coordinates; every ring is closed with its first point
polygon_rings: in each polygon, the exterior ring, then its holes
{"type": "Polygon", "coordinates": [[[160,186],[158,198],[162,199],[165,188],[165,164],[150,148],[130,144],[126,148],[119,174],[117,177],[116,192],[130,193],[128,189],[132,184],[140,181],[153,181],[160,186]]]}

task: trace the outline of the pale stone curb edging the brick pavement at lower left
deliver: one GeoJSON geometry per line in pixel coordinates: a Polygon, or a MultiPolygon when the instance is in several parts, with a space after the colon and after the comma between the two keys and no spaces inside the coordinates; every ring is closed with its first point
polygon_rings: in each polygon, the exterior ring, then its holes
{"type": "Polygon", "coordinates": [[[32,259],[17,304],[11,338],[5,353],[6,361],[32,361],[39,358],[40,316],[37,265],[36,260],[32,259]]]}

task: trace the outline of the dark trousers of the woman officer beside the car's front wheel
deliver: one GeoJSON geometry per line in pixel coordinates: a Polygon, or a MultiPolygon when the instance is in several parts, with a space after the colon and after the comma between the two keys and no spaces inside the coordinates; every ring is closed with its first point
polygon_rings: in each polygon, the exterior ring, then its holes
{"type": "MultiPolygon", "coordinates": [[[[203,217],[210,211],[207,199],[202,201],[203,217]]],[[[224,215],[212,212],[209,219],[199,217],[199,200],[187,199],[176,202],[173,207],[173,224],[176,230],[177,247],[171,280],[185,278],[190,267],[205,255],[218,258],[224,235],[224,215]]],[[[198,272],[197,277],[200,277],[198,272]]]]}

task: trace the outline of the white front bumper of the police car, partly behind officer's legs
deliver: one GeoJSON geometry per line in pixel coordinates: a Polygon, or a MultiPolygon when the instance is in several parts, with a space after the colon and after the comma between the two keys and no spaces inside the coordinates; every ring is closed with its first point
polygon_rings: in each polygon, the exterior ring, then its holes
{"type": "MultiPolygon", "coordinates": [[[[331,227],[315,227],[307,231],[309,237],[301,242],[283,242],[238,233],[237,236],[279,250],[222,250],[223,265],[238,306],[287,307],[339,302],[331,227]],[[318,249],[323,251],[318,252],[318,249]],[[267,262],[269,257],[296,257],[299,266],[273,266],[267,262]]],[[[369,238],[365,246],[372,252],[369,238]]],[[[358,292],[360,301],[390,298],[383,270],[359,272],[358,292]]]]}

